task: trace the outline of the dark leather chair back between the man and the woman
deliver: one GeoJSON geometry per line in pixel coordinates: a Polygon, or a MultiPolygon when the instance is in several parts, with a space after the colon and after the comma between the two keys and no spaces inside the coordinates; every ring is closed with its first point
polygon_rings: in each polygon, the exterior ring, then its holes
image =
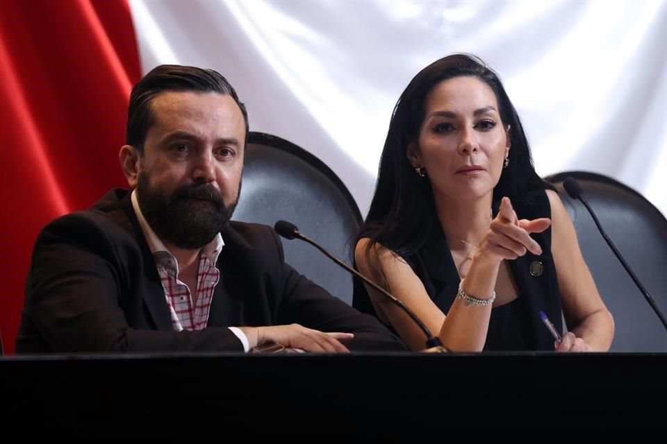
{"type": "MultiPolygon", "coordinates": [[[[347,187],[317,157],[285,139],[251,132],[236,221],[273,226],[289,221],[329,253],[351,264],[361,213],[347,187]]],[[[286,262],[352,305],[352,277],[320,251],[282,239],[286,262]]]]}

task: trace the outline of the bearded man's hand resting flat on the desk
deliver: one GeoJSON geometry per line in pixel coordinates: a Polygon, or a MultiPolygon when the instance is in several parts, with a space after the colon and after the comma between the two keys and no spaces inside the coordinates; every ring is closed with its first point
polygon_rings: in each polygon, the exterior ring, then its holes
{"type": "Polygon", "coordinates": [[[352,339],[352,333],[324,333],[299,324],[273,325],[270,327],[239,327],[248,339],[250,348],[274,342],[286,348],[300,348],[308,352],[347,352],[339,339],[352,339]]]}

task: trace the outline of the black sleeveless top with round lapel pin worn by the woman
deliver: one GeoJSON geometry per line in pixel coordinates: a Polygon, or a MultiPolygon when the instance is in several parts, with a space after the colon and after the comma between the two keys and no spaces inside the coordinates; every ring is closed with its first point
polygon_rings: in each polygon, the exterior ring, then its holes
{"type": "MultiPolygon", "coordinates": [[[[513,207],[519,219],[551,217],[549,198],[544,190],[536,191],[524,203],[513,203],[513,207]]],[[[518,298],[491,310],[484,350],[554,350],[554,339],[542,323],[540,311],[545,312],[556,330],[563,330],[561,296],[551,254],[551,228],[531,236],[540,244],[543,254],[528,252],[508,261],[518,298]]],[[[422,280],[438,308],[447,314],[456,298],[460,279],[440,224],[434,223],[422,248],[402,257],[422,280]]],[[[356,278],[352,306],[377,316],[365,287],[356,278]]]]}

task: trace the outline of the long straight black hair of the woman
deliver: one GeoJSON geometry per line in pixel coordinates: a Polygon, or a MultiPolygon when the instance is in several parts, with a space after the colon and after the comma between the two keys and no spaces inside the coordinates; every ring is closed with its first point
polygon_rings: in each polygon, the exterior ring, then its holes
{"type": "Polygon", "coordinates": [[[484,62],[468,54],[453,54],[422,69],[398,99],[389,123],[382,151],[377,185],[368,216],[357,240],[368,237],[368,251],[377,242],[399,255],[410,255],[427,241],[436,222],[431,185],[420,178],[408,160],[407,149],[416,142],[425,117],[429,92],[443,80],[454,77],[475,77],[493,90],[504,128],[509,125],[511,150],[509,165],[502,170],[500,181],[493,189],[493,207],[502,196],[513,203],[526,202],[530,191],[552,186],[536,173],[528,140],[500,78],[484,62]]]}

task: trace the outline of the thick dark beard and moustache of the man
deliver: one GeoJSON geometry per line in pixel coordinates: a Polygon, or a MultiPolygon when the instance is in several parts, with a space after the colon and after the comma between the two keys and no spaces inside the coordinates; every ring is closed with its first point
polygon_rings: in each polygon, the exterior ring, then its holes
{"type": "Polygon", "coordinates": [[[139,173],[139,207],[155,234],[165,244],[196,250],[208,244],[229,221],[240,194],[228,206],[212,185],[195,183],[178,187],[171,196],[151,187],[147,173],[139,173]]]}

